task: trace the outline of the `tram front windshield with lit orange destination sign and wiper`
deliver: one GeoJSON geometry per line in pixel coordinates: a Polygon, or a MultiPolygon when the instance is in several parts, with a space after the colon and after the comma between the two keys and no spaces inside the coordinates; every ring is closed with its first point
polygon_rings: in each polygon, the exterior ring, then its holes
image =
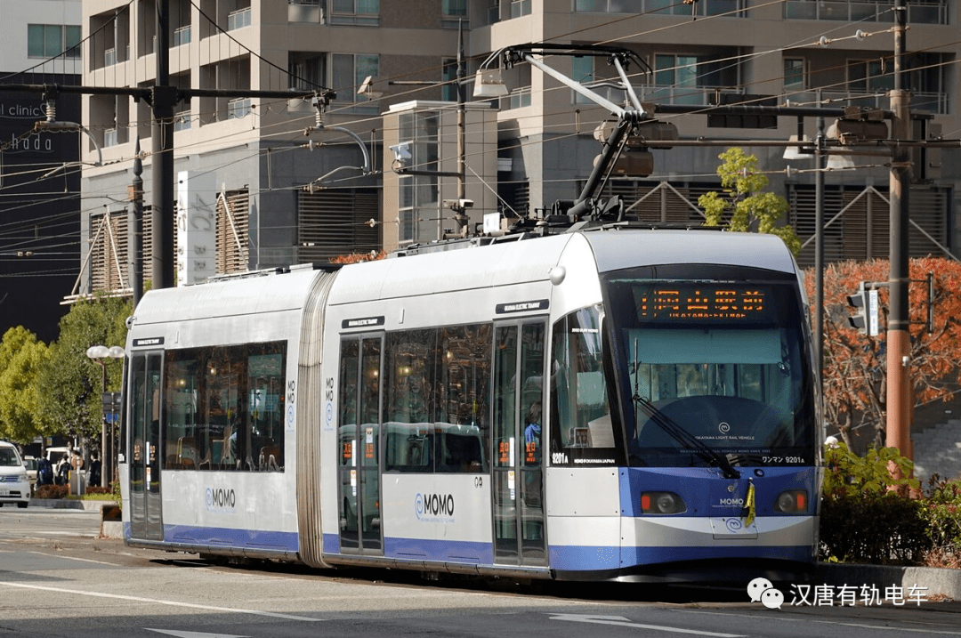
{"type": "Polygon", "coordinates": [[[805,465],[813,386],[797,280],[658,266],[606,278],[631,465],[805,465]]]}

